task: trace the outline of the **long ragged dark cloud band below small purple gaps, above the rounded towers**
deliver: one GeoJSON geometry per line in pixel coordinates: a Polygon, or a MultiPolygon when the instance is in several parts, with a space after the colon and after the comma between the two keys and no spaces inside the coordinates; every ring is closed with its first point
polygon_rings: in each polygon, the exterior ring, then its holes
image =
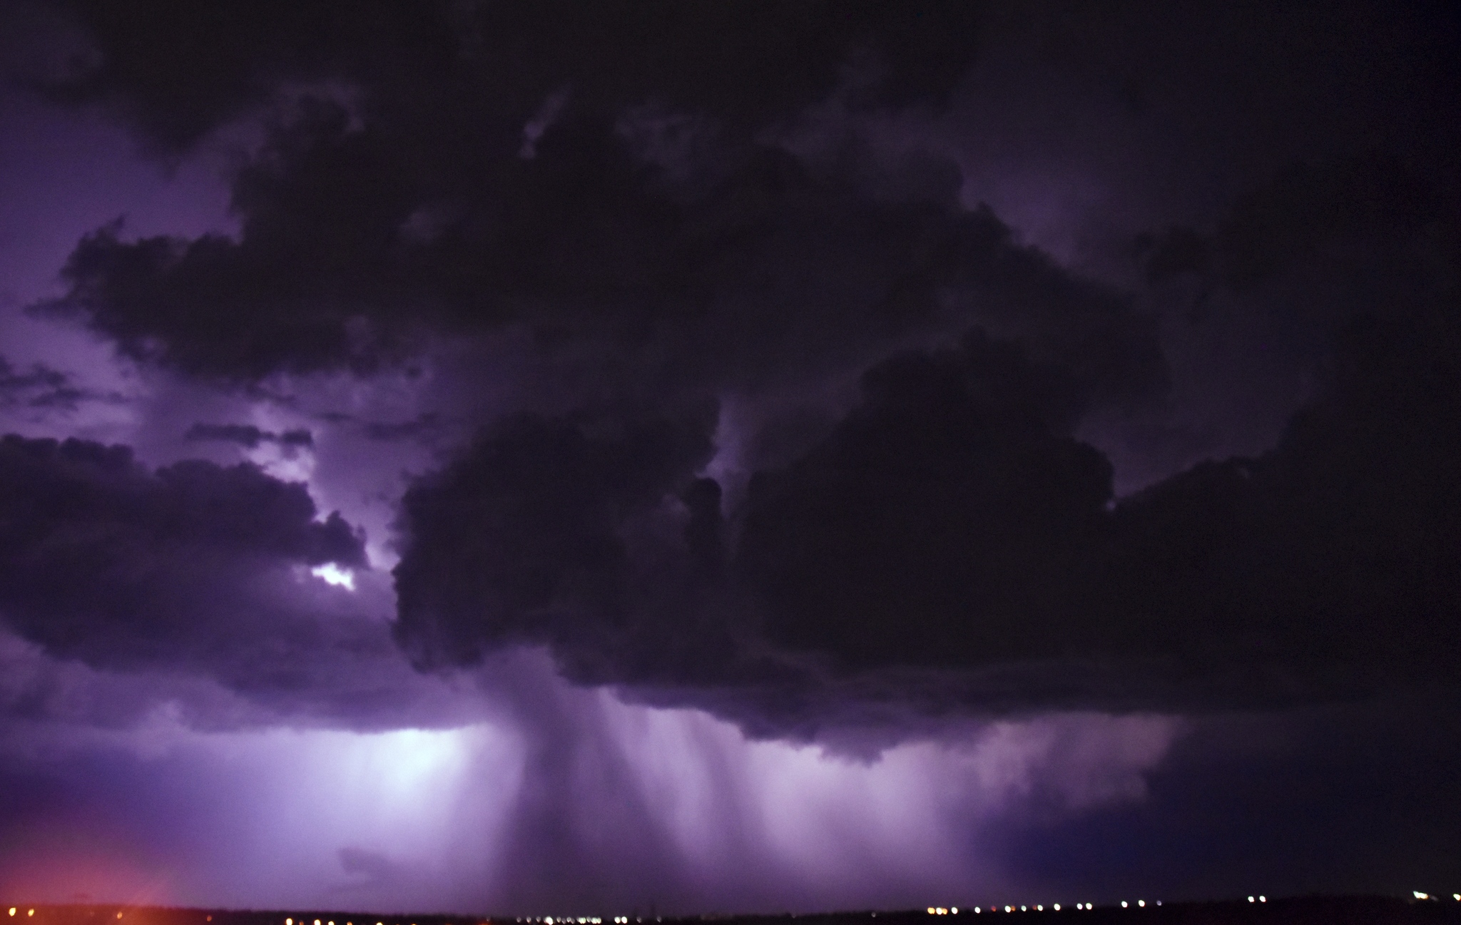
{"type": "Polygon", "coordinates": [[[343,110],[316,115],[240,175],[240,241],[105,228],[72,254],[70,292],[38,308],[207,378],[365,373],[431,332],[527,324],[549,354],[598,358],[596,390],[643,399],[846,368],[980,319],[1086,364],[1112,400],[1164,383],[1150,319],[948,193],[869,199],[760,149],[672,197],[609,127],[576,123],[501,178],[463,174],[501,193],[450,194],[421,241],[400,231],[434,196],[402,186],[415,155],[348,132],[343,110]]]}

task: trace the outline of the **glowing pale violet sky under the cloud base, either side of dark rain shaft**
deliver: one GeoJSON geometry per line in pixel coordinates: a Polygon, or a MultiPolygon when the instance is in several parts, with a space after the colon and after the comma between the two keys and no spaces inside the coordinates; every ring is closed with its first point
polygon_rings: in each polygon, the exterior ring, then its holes
{"type": "MultiPolygon", "coordinates": [[[[972,902],[1001,878],[980,842],[983,820],[1017,808],[1031,789],[1059,793],[1071,814],[1140,801],[1144,773],[1180,731],[1167,717],[1045,716],[907,742],[868,763],[747,741],[695,710],[551,684],[564,709],[596,717],[580,735],[606,736],[628,769],[615,782],[590,761],[576,786],[603,805],[646,807],[647,818],[633,824],[668,839],[697,884],[685,899],[709,907],[972,902]]],[[[511,820],[533,735],[514,722],[526,720],[380,734],[202,732],[178,715],[164,709],[131,732],[76,738],[70,728],[39,750],[34,739],[4,750],[10,764],[42,766],[37,755],[47,748],[86,753],[80,766],[101,761],[104,779],[145,788],[110,820],[58,823],[66,843],[99,846],[85,858],[32,839],[35,883],[61,890],[75,881],[66,869],[86,868],[89,891],[112,899],[150,890],[180,903],[482,912],[503,902],[498,872],[522,837],[511,820]],[[118,761],[130,770],[118,774],[118,761]],[[104,850],[108,839],[152,845],[158,856],[123,865],[104,850]]],[[[636,871],[636,858],[621,856],[633,840],[587,834],[581,843],[603,855],[596,865],[636,871]]],[[[640,903],[653,902],[653,880],[650,871],[647,886],[628,894],[641,890],[640,903]]]]}

